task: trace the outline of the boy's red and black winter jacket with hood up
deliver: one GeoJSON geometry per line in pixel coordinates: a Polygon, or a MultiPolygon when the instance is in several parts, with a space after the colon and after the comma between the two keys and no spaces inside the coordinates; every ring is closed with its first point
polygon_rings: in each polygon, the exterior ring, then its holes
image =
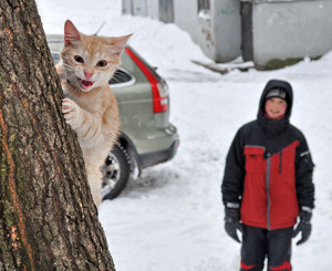
{"type": "Polygon", "coordinates": [[[239,204],[248,226],[281,229],[294,226],[299,208],[313,208],[313,163],[303,134],[289,123],[292,88],[284,81],[270,81],[260,100],[258,118],[237,133],[227,155],[221,185],[222,201],[239,204]],[[269,90],[288,93],[281,119],[264,116],[269,90]]]}

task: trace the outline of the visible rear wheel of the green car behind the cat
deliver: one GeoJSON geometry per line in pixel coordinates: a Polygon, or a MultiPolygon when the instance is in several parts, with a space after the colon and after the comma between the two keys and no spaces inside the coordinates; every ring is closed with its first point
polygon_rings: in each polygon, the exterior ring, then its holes
{"type": "Polygon", "coordinates": [[[103,199],[116,198],[131,178],[131,157],[120,143],[114,144],[101,171],[103,199]]]}

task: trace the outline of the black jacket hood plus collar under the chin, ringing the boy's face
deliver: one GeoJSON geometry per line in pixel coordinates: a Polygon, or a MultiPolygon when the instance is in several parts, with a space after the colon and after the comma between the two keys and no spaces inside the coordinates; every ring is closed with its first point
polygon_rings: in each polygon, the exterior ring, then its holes
{"type": "Polygon", "coordinates": [[[290,83],[281,80],[271,80],[267,83],[260,97],[259,110],[257,115],[258,123],[262,126],[267,135],[278,135],[289,126],[289,118],[291,115],[292,105],[293,91],[290,83]],[[270,119],[266,116],[266,97],[268,92],[273,88],[282,88],[287,93],[287,111],[284,117],[281,119],[270,119]]]}

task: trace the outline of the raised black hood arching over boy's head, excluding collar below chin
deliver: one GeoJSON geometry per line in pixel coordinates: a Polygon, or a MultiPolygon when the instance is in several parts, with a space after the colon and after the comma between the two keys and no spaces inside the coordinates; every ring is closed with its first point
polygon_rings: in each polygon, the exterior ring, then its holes
{"type": "Polygon", "coordinates": [[[264,110],[266,96],[267,96],[268,92],[273,88],[282,88],[286,91],[288,98],[287,98],[287,111],[286,111],[284,118],[289,119],[289,117],[291,115],[291,111],[292,111],[292,105],[293,105],[293,91],[292,91],[292,86],[290,85],[290,83],[282,81],[282,80],[270,80],[267,83],[267,85],[261,94],[261,97],[260,97],[258,115],[264,115],[264,113],[266,113],[266,110],[264,110]]]}

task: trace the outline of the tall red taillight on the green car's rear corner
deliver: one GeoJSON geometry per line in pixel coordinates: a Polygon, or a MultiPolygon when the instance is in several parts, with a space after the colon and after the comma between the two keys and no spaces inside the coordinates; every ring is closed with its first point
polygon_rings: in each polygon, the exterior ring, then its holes
{"type": "Polygon", "coordinates": [[[153,72],[144,64],[144,62],[129,49],[125,49],[127,54],[137,64],[141,71],[144,73],[152,86],[154,113],[165,112],[168,108],[167,90],[153,74],[153,72]]]}

